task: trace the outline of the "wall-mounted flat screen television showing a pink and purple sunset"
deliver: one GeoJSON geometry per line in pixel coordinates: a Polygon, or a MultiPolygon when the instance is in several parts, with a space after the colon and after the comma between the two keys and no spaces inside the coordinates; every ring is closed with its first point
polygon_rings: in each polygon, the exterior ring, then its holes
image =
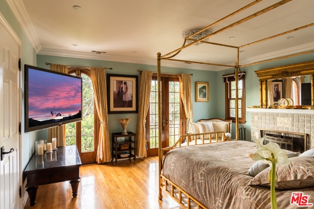
{"type": "Polygon", "coordinates": [[[25,132],[82,120],[82,78],[25,65],[25,132]]]}

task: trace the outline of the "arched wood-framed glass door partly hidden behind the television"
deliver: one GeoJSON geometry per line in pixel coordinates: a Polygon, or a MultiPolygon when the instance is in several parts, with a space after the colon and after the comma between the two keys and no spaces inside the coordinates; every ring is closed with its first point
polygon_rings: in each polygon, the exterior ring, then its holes
{"type": "Polygon", "coordinates": [[[66,124],[66,145],[76,144],[82,164],[96,163],[99,119],[94,106],[94,93],[90,71],[69,70],[69,74],[82,77],[82,121],[66,124]]]}

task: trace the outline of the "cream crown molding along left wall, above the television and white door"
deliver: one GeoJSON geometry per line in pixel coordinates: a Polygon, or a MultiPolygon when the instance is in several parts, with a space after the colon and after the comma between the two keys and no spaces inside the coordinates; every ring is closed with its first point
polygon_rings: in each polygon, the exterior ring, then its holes
{"type": "Polygon", "coordinates": [[[35,49],[36,53],[38,53],[41,46],[22,0],[6,0],[6,2],[11,8],[17,21],[21,24],[30,44],[35,49]]]}

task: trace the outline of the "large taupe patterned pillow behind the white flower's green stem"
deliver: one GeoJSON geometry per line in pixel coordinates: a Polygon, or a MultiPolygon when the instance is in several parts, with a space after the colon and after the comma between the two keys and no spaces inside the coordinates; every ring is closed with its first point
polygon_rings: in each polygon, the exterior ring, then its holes
{"type": "MultiPolygon", "coordinates": [[[[249,185],[270,187],[268,173],[271,167],[256,175],[249,185]]],[[[290,158],[288,165],[276,166],[276,188],[297,189],[314,186],[314,157],[299,156],[290,158]]]]}

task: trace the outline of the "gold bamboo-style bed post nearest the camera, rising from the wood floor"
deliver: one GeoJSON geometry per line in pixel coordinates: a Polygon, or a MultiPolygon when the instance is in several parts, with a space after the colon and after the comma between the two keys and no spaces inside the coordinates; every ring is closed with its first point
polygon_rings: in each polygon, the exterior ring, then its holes
{"type": "Polygon", "coordinates": [[[161,181],[161,161],[162,161],[162,151],[161,151],[161,87],[160,87],[160,60],[161,53],[157,53],[157,83],[158,83],[158,177],[159,177],[159,194],[158,199],[162,199],[162,181],[161,181]]]}

